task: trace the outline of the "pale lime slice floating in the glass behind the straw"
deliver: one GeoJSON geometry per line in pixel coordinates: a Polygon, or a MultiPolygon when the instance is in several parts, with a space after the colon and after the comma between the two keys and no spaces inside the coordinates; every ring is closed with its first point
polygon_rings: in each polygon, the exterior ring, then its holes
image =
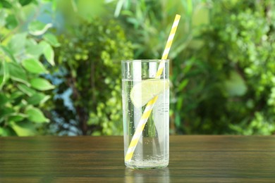
{"type": "Polygon", "coordinates": [[[130,99],[135,107],[140,108],[166,89],[169,89],[169,80],[143,80],[131,89],[130,99]]]}

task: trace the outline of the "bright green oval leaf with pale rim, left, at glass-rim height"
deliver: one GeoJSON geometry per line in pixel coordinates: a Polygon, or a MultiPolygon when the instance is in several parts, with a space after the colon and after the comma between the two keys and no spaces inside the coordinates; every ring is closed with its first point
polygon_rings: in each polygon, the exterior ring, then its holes
{"type": "Polygon", "coordinates": [[[47,73],[44,65],[35,58],[28,58],[22,62],[23,67],[34,74],[47,73]]]}

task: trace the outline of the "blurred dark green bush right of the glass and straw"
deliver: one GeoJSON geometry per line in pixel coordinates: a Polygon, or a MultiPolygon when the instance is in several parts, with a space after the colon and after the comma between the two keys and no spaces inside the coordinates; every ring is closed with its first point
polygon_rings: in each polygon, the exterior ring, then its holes
{"type": "Polygon", "coordinates": [[[183,54],[193,68],[185,75],[181,132],[274,134],[274,1],[210,5],[209,24],[183,54]]]}

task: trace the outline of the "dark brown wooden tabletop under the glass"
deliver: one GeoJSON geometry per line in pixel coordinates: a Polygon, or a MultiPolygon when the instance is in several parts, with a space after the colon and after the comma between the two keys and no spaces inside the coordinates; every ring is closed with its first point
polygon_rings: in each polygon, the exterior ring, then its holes
{"type": "Polygon", "coordinates": [[[275,137],[171,136],[161,170],[126,168],[123,137],[1,137],[0,182],[275,182],[275,137]]]}

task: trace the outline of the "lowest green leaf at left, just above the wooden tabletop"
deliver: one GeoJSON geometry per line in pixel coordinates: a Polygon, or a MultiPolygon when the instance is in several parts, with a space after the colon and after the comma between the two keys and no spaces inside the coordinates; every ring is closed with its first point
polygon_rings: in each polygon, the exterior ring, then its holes
{"type": "Polygon", "coordinates": [[[35,135],[35,127],[32,122],[11,122],[11,127],[18,136],[33,136],[35,135]]]}

